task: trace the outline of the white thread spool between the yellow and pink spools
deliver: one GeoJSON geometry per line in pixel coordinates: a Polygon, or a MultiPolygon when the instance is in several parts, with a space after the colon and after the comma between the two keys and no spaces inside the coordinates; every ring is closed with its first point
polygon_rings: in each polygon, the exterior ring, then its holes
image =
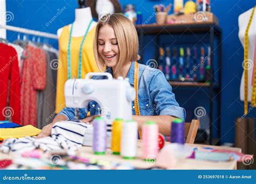
{"type": "Polygon", "coordinates": [[[121,155],[124,159],[134,159],[137,154],[138,123],[125,121],[121,136],[121,155]]]}

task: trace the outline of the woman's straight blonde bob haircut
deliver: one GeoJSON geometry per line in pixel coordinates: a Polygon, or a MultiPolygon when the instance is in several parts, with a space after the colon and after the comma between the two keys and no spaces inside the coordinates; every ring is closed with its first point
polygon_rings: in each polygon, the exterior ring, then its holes
{"type": "Polygon", "coordinates": [[[98,33],[100,27],[104,25],[111,26],[116,34],[119,48],[119,60],[116,66],[117,71],[121,70],[125,63],[132,60],[139,60],[138,35],[131,20],[121,14],[107,14],[99,20],[93,41],[93,52],[99,70],[104,72],[106,69],[105,61],[98,53],[98,33]]]}

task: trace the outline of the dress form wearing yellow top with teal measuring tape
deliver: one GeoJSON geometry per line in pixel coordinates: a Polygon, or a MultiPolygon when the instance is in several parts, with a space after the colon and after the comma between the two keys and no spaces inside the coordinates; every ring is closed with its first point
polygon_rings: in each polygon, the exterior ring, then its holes
{"type": "Polygon", "coordinates": [[[91,22],[91,8],[85,7],[85,1],[79,0],[75,10],[75,22],[57,31],[59,42],[59,60],[56,86],[56,113],[65,107],[64,86],[71,77],[84,78],[89,72],[99,72],[93,55],[93,39],[96,22],[91,22]],[[81,5],[81,4],[82,5],[81,5]],[[87,29],[90,26],[89,31],[87,29]],[[86,33],[86,35],[85,35],[86,33]]]}

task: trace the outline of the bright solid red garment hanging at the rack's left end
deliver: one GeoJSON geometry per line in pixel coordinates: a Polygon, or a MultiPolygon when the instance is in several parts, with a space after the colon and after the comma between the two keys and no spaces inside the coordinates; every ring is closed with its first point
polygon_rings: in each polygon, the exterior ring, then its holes
{"type": "Polygon", "coordinates": [[[21,84],[19,79],[18,55],[15,48],[0,43],[0,120],[11,116],[12,122],[20,124],[21,84]],[[9,108],[6,108],[8,88],[9,108]]]}

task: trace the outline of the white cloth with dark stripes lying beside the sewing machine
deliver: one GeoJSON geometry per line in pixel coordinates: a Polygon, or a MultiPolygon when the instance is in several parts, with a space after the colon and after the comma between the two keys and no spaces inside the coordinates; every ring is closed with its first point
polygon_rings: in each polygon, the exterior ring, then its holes
{"type": "Polygon", "coordinates": [[[67,150],[71,153],[82,147],[87,126],[89,125],[85,123],[71,121],[57,122],[52,128],[51,136],[40,139],[33,137],[6,139],[0,145],[0,151],[3,153],[24,152],[40,148],[45,152],[67,150]]]}

